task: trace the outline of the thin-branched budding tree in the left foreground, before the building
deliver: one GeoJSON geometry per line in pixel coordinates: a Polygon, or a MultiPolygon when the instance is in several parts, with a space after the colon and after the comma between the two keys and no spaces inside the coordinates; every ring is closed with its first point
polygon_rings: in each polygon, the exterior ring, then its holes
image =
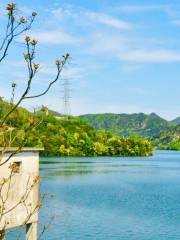
{"type": "MultiPolygon", "coordinates": [[[[33,22],[35,21],[35,18],[37,16],[36,12],[32,12],[31,16],[24,17],[24,16],[18,16],[17,14],[17,6],[15,3],[9,3],[6,6],[7,11],[7,23],[4,27],[4,37],[2,39],[2,42],[0,43],[0,63],[2,63],[7,57],[8,52],[13,46],[14,40],[17,39],[17,37],[21,36],[22,34],[26,33],[28,30],[31,29],[33,22]]],[[[48,85],[44,90],[39,92],[36,95],[31,94],[31,86],[34,77],[37,75],[40,64],[36,62],[36,47],[38,44],[38,41],[36,39],[31,38],[29,35],[25,36],[24,39],[25,42],[25,48],[26,51],[24,53],[24,60],[26,62],[27,66],[27,72],[28,72],[28,78],[26,80],[26,86],[24,91],[21,93],[19,99],[14,102],[14,96],[15,96],[15,89],[16,89],[16,83],[12,84],[12,93],[11,93],[11,101],[9,104],[9,107],[4,111],[4,115],[0,119],[0,137],[3,139],[2,144],[2,151],[0,155],[0,168],[2,168],[5,164],[10,162],[12,157],[14,157],[16,154],[20,153],[22,148],[24,147],[26,143],[26,132],[37,128],[39,124],[43,121],[43,118],[39,121],[36,121],[36,119],[31,116],[31,119],[29,121],[29,125],[24,129],[17,130],[11,124],[9,123],[10,117],[18,111],[18,107],[21,105],[23,101],[26,99],[35,99],[39,98],[43,95],[45,95],[52,86],[59,80],[59,77],[61,75],[61,72],[69,60],[69,54],[66,53],[62,56],[61,59],[58,59],[55,61],[56,66],[56,73],[54,79],[50,80],[48,85]],[[14,150],[11,154],[7,154],[7,150],[9,147],[12,147],[13,144],[16,142],[17,138],[21,138],[21,141],[19,145],[16,147],[16,150],[14,150]]],[[[27,218],[24,221],[24,224],[26,224],[35,214],[39,207],[41,206],[40,202],[37,202],[36,206],[34,206],[34,209],[30,206],[30,202],[28,202],[28,196],[31,194],[31,191],[33,188],[39,183],[39,176],[35,176],[33,179],[26,179],[26,186],[23,194],[18,198],[13,206],[8,206],[8,198],[10,189],[12,188],[12,184],[14,181],[14,172],[16,171],[16,164],[11,164],[9,166],[9,175],[6,178],[1,179],[0,178],[0,239],[3,238],[4,231],[7,227],[7,222],[5,221],[5,216],[9,214],[10,212],[13,212],[14,209],[18,208],[20,205],[23,205],[24,208],[27,210],[27,218]]],[[[44,197],[44,196],[43,196],[44,197]]],[[[47,228],[43,228],[43,232],[47,228]]],[[[42,236],[42,233],[41,235],[42,236]]],[[[17,238],[18,239],[18,238],[17,238]]]]}

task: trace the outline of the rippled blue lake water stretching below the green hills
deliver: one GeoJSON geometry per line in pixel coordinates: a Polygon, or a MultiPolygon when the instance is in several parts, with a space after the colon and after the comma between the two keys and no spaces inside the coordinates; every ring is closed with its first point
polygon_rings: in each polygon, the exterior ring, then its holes
{"type": "Polygon", "coordinates": [[[180,239],[180,152],[143,158],[42,158],[47,240],[180,239]]]}

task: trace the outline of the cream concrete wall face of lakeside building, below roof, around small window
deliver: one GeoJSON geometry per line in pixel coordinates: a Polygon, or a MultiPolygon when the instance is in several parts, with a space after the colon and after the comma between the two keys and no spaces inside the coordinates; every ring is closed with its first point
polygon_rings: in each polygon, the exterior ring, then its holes
{"type": "MultiPolygon", "coordinates": [[[[1,162],[6,160],[9,154],[11,153],[4,155],[1,162]]],[[[35,209],[39,204],[39,184],[36,183],[33,188],[31,186],[39,175],[39,152],[21,152],[0,166],[0,186],[4,178],[9,178],[11,173],[9,166],[13,162],[21,163],[20,172],[15,171],[0,191],[0,206],[3,205],[3,199],[5,201],[4,212],[7,212],[0,220],[0,230],[4,229],[5,225],[8,229],[38,221],[38,213],[35,209]],[[29,215],[32,216],[28,219],[29,215]]]]}

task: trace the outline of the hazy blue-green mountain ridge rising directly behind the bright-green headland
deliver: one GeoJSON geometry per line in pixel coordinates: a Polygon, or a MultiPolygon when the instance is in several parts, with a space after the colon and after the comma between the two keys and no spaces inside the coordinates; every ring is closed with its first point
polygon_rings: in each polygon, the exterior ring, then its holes
{"type": "Polygon", "coordinates": [[[96,129],[105,129],[119,136],[140,135],[152,141],[161,137],[162,131],[170,131],[175,126],[155,113],[136,114],[87,114],[80,116],[96,129]]]}

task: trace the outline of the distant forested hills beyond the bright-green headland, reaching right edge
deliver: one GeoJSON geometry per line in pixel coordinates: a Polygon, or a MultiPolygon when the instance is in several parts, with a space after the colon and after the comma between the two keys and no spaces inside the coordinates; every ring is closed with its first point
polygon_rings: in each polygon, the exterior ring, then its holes
{"type": "Polygon", "coordinates": [[[98,130],[108,130],[119,136],[139,135],[160,149],[180,150],[180,118],[167,121],[155,113],[87,114],[80,116],[98,130]]]}

